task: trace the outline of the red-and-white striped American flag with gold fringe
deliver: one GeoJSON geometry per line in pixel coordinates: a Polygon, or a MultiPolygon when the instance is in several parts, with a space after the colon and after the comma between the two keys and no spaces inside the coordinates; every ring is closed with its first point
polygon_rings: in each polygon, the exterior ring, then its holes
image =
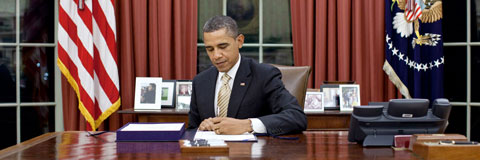
{"type": "Polygon", "coordinates": [[[60,0],[58,12],[57,65],[96,130],[120,107],[114,1],[60,0]]]}

